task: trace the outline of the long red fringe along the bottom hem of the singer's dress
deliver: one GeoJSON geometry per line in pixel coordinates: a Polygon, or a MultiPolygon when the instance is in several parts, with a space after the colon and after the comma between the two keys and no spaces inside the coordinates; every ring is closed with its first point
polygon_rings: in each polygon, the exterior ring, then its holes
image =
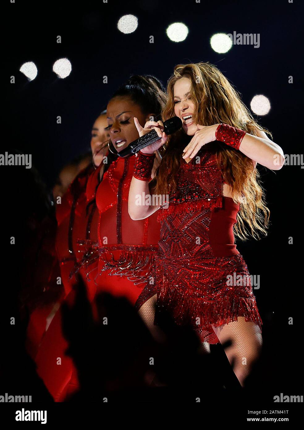
{"type": "Polygon", "coordinates": [[[256,322],[260,329],[262,326],[253,293],[250,297],[225,295],[214,301],[204,301],[204,298],[191,298],[187,293],[182,294],[176,286],[173,289],[165,276],[159,287],[156,313],[160,315],[163,309],[170,312],[176,324],[191,324],[196,329],[212,329],[211,325],[219,327],[237,321],[237,316],[244,316],[247,322],[256,322]],[[196,324],[198,317],[200,325],[196,324]]]}

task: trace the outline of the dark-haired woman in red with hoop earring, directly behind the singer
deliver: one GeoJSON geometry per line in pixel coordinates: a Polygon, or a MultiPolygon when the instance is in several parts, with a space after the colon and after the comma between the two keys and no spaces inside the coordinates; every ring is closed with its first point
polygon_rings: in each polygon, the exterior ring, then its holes
{"type": "MultiPolygon", "coordinates": [[[[160,114],[165,101],[161,83],[152,76],[132,76],[120,87],[107,106],[112,151],[119,153],[138,138],[134,116],[144,125],[150,117],[160,114]]],[[[137,221],[128,215],[128,193],[135,163],[135,155],[118,157],[103,175],[96,191],[99,264],[95,284],[90,285],[91,298],[102,291],[125,297],[135,304],[151,275],[158,252],[160,226],[156,214],[137,221]]],[[[152,171],[150,179],[151,174],[152,171]]],[[[88,198],[94,198],[98,181],[99,169],[89,178],[88,198]]]]}

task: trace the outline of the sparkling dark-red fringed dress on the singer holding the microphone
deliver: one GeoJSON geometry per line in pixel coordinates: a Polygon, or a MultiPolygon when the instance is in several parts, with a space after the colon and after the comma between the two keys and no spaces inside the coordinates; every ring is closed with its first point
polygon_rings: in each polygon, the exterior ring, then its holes
{"type": "Polygon", "coordinates": [[[156,212],[161,239],[154,285],[147,283],[135,304],[139,309],[157,294],[155,324],[168,312],[178,325],[193,326],[201,341],[210,344],[219,343],[212,325],[237,321],[237,316],[260,329],[262,325],[246,262],[234,244],[232,227],[240,205],[222,196],[215,150],[212,142],[197,154],[199,163],[197,156],[188,164],[182,160],[169,207],[156,212]],[[227,284],[229,275],[241,275],[245,285],[227,284]]]}

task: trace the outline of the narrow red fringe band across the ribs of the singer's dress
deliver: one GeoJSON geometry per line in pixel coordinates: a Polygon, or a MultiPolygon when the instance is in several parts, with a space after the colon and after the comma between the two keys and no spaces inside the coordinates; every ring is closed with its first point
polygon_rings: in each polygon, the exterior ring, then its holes
{"type": "Polygon", "coordinates": [[[169,203],[169,207],[167,209],[159,209],[157,221],[161,222],[168,215],[177,214],[177,213],[185,213],[185,212],[194,212],[198,211],[201,208],[221,208],[223,202],[223,196],[220,195],[215,199],[201,199],[201,200],[191,200],[185,201],[182,203],[169,203]]]}

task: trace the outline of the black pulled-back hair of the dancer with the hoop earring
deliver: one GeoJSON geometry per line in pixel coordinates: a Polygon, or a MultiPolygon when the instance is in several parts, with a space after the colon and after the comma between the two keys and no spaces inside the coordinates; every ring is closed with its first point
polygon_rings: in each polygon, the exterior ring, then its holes
{"type": "MultiPolygon", "coordinates": [[[[111,98],[126,96],[140,106],[143,114],[160,115],[167,95],[161,81],[152,75],[132,75],[111,98]]],[[[160,119],[160,118],[159,118],[160,119]]]]}

